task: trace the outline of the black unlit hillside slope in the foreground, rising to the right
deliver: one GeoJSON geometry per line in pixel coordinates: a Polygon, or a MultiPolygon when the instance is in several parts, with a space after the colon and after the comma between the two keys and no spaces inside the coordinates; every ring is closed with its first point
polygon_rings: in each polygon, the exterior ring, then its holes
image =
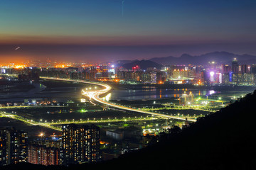
{"type": "Polygon", "coordinates": [[[256,92],[201,118],[176,135],[164,136],[156,145],[109,162],[67,169],[256,169],[255,120],[256,92]]]}

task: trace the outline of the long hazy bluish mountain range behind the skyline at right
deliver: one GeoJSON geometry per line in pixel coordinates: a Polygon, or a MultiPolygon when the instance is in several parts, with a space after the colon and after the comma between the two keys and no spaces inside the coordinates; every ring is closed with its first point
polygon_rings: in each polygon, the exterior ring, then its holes
{"type": "Polygon", "coordinates": [[[254,55],[235,55],[230,52],[210,52],[204,55],[188,55],[183,54],[181,57],[155,57],[150,60],[164,65],[174,64],[207,64],[208,62],[215,61],[219,64],[230,64],[234,58],[238,59],[240,64],[254,64],[256,63],[256,56],[254,55]]]}

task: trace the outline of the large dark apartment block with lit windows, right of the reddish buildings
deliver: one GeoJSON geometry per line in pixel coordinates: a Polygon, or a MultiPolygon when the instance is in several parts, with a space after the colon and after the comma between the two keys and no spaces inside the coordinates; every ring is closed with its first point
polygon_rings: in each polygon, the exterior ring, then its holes
{"type": "Polygon", "coordinates": [[[100,160],[100,128],[95,125],[63,125],[60,164],[100,160]]]}

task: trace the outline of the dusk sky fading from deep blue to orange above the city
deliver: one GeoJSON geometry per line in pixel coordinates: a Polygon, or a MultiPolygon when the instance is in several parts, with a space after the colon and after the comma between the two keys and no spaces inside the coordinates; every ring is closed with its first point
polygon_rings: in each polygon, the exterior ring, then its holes
{"type": "Polygon", "coordinates": [[[1,61],[256,55],[255,0],[1,0],[1,61]],[[15,50],[16,47],[20,47],[15,50]]]}

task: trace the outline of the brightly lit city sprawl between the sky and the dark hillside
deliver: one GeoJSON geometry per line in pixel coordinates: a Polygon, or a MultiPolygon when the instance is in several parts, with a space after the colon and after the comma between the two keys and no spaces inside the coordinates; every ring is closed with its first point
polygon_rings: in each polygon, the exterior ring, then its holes
{"type": "Polygon", "coordinates": [[[217,63],[1,64],[0,165],[104,162],[153,145],[254,90],[255,64],[217,63]]]}

